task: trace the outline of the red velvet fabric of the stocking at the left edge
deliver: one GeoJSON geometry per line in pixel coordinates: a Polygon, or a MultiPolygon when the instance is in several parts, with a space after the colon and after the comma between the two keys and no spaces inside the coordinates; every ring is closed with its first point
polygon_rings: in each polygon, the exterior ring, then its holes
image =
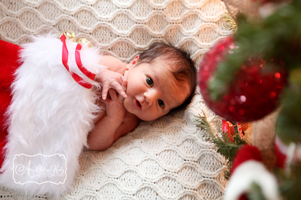
{"type": "Polygon", "coordinates": [[[14,80],[14,72],[20,66],[19,51],[21,47],[0,40],[0,167],[3,163],[3,147],[8,134],[5,125],[5,111],[11,102],[10,86],[14,80]]]}

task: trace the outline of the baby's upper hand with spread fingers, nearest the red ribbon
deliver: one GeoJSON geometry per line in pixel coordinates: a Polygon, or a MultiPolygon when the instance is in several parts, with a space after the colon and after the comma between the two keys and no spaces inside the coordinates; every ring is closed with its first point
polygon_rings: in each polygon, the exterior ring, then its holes
{"type": "Polygon", "coordinates": [[[110,70],[102,70],[98,81],[102,84],[102,99],[107,98],[107,94],[110,88],[115,89],[123,98],[126,97],[122,84],[126,81],[126,78],[118,72],[110,70]]]}

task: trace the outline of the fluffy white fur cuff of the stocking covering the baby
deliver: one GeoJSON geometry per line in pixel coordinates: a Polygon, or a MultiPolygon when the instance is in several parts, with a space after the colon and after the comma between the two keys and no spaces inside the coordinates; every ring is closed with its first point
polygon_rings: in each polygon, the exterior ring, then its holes
{"type": "MultiPolygon", "coordinates": [[[[23,46],[20,56],[23,64],[16,70],[16,81],[12,86],[13,99],[7,112],[9,134],[0,184],[29,194],[59,196],[72,187],[79,168],[79,154],[87,145],[87,134],[93,127],[95,112],[100,110],[95,104],[99,95],[95,88],[99,88],[99,85],[78,69],[74,57],[77,43],[66,42],[69,51],[68,65],[71,71],[95,85],[91,89],[75,82],[62,64],[63,43],[57,36],[47,35],[33,39],[33,43],[23,46]],[[63,154],[67,160],[67,179],[63,184],[17,184],[12,170],[16,154],[63,154]]],[[[102,67],[98,64],[101,59],[98,49],[83,45],[81,59],[92,73],[98,73],[97,69],[102,67]]],[[[61,161],[57,159],[50,163],[44,158],[24,157],[20,162],[28,163],[31,160],[31,169],[36,169],[35,165],[38,163],[49,169],[53,162],[61,161]]],[[[22,182],[42,183],[47,180],[49,178],[36,177],[28,180],[25,178],[22,182]]],[[[51,181],[57,180],[53,177],[51,181]]]]}

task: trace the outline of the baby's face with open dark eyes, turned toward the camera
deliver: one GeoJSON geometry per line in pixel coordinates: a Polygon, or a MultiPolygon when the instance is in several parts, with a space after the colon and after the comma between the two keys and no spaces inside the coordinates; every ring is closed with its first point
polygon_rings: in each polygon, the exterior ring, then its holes
{"type": "Polygon", "coordinates": [[[152,64],[128,64],[124,73],[128,81],[127,97],[123,101],[127,111],[144,121],[152,121],[186,100],[189,90],[181,92],[183,90],[166,67],[160,59],[152,64]]]}

